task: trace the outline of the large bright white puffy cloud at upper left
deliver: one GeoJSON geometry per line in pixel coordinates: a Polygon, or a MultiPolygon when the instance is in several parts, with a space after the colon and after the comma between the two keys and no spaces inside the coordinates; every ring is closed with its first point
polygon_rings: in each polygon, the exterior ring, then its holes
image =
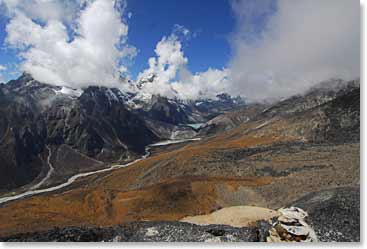
{"type": "Polygon", "coordinates": [[[118,86],[120,61],[137,53],[127,44],[128,26],[120,12],[125,8],[116,7],[120,1],[5,1],[11,9],[6,42],[20,50],[21,69],[39,81],[74,88],[118,86]],[[65,6],[73,17],[64,16],[65,6]]]}

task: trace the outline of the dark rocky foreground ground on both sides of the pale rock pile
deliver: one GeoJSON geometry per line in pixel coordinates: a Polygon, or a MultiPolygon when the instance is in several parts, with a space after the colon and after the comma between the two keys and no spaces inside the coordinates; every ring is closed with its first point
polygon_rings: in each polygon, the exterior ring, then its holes
{"type": "MultiPolygon", "coordinates": [[[[336,188],[310,193],[297,200],[308,210],[307,222],[320,242],[360,241],[359,189],[336,188]]],[[[259,209],[260,210],[260,209],[259,209]]],[[[274,212],[277,213],[277,212],[274,212]]],[[[232,215],[232,212],[228,213],[232,215]]],[[[248,215],[242,212],[237,215],[248,215]]],[[[278,214],[279,216],[279,214],[278,214]]],[[[271,220],[259,220],[251,226],[195,225],[187,222],[131,222],[116,227],[67,227],[46,232],[17,234],[0,238],[4,242],[266,242],[271,220]]],[[[219,221],[219,220],[218,220],[219,221]]],[[[236,220],[235,222],[238,222],[236,220]]]]}

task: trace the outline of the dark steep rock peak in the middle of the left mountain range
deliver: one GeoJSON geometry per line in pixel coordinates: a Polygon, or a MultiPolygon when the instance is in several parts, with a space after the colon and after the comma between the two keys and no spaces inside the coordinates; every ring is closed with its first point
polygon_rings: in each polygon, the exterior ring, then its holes
{"type": "Polygon", "coordinates": [[[71,108],[54,106],[47,114],[50,140],[100,160],[116,160],[129,151],[144,153],[158,139],[127,110],[117,89],[89,87],[71,108]]]}

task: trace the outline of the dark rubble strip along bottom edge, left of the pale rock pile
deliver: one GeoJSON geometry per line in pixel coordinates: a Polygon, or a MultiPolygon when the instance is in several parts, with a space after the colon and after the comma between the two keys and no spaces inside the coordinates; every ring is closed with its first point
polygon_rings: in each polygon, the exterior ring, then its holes
{"type": "Polygon", "coordinates": [[[6,242],[264,242],[270,224],[251,228],[198,226],[183,222],[134,222],[114,228],[64,228],[1,238],[6,242]]]}

